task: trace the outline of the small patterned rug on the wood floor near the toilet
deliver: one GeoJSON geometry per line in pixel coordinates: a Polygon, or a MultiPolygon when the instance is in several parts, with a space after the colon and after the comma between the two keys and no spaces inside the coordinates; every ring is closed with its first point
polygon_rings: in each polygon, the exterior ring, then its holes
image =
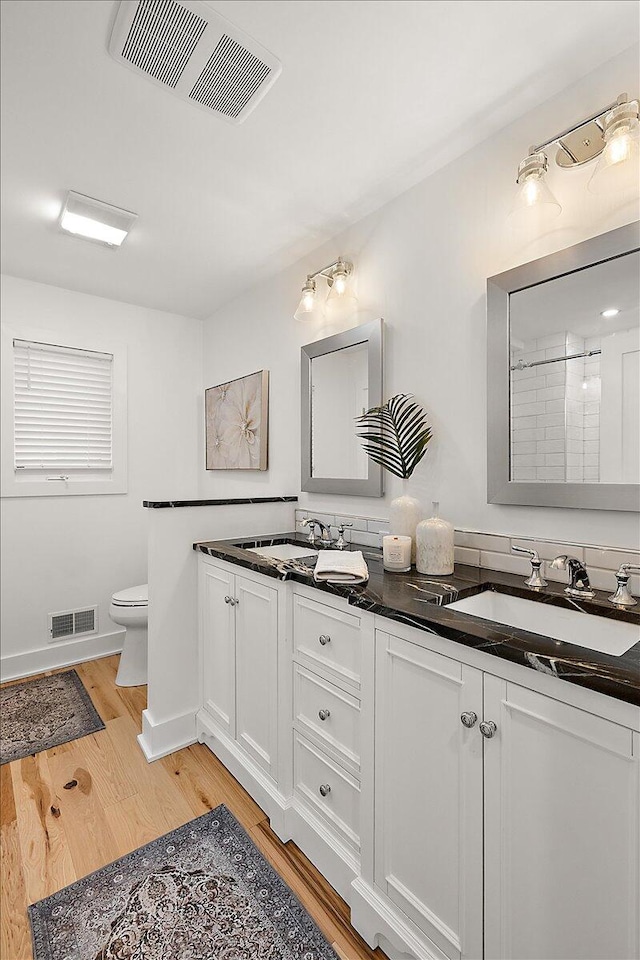
{"type": "Polygon", "coordinates": [[[104,730],[75,670],[0,690],[0,763],[104,730]]]}

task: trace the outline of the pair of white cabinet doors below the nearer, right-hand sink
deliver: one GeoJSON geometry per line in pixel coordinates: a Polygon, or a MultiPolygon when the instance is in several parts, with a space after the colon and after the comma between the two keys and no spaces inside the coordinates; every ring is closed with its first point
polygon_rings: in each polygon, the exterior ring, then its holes
{"type": "Polygon", "coordinates": [[[446,957],[638,957],[637,732],[385,632],[375,714],[375,887],[446,957]]]}

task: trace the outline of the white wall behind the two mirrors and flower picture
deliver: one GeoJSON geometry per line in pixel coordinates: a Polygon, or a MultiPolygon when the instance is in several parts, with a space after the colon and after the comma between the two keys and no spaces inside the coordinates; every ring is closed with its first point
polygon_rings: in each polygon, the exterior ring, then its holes
{"type": "MultiPolygon", "coordinates": [[[[638,219],[636,197],[621,202],[587,192],[592,166],[567,173],[552,163],[549,184],[564,208],[552,230],[517,235],[507,220],[529,144],[596,112],[620,91],[637,93],[638,59],[638,47],[630,48],[205,322],[205,386],[262,367],[271,371],[271,469],[238,475],[237,495],[299,489],[300,346],[336,331],[298,324],[292,315],[305,275],[342,254],[357,266],[358,322],[386,321],[386,396],[414,393],[431,418],[435,439],[412,493],[425,505],[440,500],[442,514],[458,527],[637,545],[637,515],[487,504],[485,282],[638,219]]],[[[226,483],[204,474],[201,492],[219,495],[226,483]]],[[[330,513],[384,516],[400,492],[392,477],[386,486],[383,501],[303,495],[301,502],[330,513]]]]}

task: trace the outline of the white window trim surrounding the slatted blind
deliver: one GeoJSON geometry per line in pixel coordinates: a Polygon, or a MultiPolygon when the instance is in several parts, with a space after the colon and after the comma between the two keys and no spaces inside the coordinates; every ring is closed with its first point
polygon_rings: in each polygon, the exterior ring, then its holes
{"type": "MultiPolygon", "coordinates": [[[[2,350],[0,359],[0,385],[2,398],[2,496],[3,497],[66,497],[123,494],[127,492],[127,348],[122,343],[113,343],[94,338],[90,333],[82,335],[77,346],[84,350],[109,353],[113,356],[113,468],[108,479],[97,474],[83,477],[80,474],[67,480],[49,481],[37,477],[19,477],[13,466],[13,340],[28,340],[55,343],[51,331],[34,328],[2,327],[2,350]]],[[[68,344],[74,346],[74,344],[68,344]]]]}

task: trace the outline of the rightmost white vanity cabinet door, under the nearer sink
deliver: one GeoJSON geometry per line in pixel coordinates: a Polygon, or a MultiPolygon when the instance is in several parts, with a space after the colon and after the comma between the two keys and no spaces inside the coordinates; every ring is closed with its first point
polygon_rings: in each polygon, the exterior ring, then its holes
{"type": "Polygon", "coordinates": [[[489,675],[484,714],[486,957],[636,958],[637,734],[489,675]]]}

